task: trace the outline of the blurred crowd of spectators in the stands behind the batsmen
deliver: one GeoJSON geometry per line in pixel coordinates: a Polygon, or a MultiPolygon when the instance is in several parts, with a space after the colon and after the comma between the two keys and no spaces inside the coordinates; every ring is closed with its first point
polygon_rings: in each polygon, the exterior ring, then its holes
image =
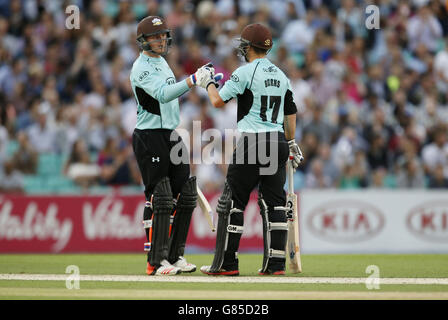
{"type": "MultiPolygon", "coordinates": [[[[445,0],[0,0],[0,192],[141,189],[129,83],[136,25],[173,30],[177,80],[212,61],[227,80],[232,40],[253,22],[274,36],[269,59],[291,79],[305,163],[296,189],[448,188],[445,0]],[[366,28],[377,5],[380,28],[366,28]],[[68,29],[65,9],[80,9],[68,29]]],[[[236,102],[180,98],[181,128],[236,128],[236,102]]],[[[202,143],[206,145],[207,142],[202,143]]],[[[220,155],[214,155],[220,157],[220,155]]],[[[225,164],[192,164],[207,191],[225,164]]]]}

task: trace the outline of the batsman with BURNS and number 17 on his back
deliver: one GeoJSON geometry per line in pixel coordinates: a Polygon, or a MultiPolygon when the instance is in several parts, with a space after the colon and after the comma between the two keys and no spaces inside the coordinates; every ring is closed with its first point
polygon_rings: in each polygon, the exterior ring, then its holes
{"type": "Polygon", "coordinates": [[[297,108],[290,81],[266,58],[271,48],[272,36],[267,27],[258,23],[246,26],[237,39],[237,50],[247,64],[236,69],[221,90],[215,86],[207,88],[210,101],[217,108],[237,99],[237,126],[241,132],[216,208],[215,256],[210,266],[201,268],[208,275],[239,275],[243,212],[255,188],[258,188],[264,238],[259,274],[285,274],[286,162],[291,159],[296,168],[303,157],[294,140],[297,108]],[[267,151],[269,162],[259,150],[267,151]],[[268,164],[272,170],[266,170],[268,164]]]}

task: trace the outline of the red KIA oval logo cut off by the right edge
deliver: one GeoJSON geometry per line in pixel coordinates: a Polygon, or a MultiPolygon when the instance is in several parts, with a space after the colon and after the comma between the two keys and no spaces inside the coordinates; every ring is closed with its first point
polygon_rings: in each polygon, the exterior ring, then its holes
{"type": "Polygon", "coordinates": [[[425,240],[448,241],[448,201],[432,201],[409,211],[409,231],[425,240]]]}

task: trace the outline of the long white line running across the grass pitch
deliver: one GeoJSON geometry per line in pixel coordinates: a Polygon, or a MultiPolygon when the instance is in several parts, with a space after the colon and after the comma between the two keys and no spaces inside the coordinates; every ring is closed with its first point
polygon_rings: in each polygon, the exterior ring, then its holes
{"type": "MultiPolygon", "coordinates": [[[[0,280],[65,281],[70,274],[0,274],[0,280]]],[[[73,275],[71,275],[73,276],[73,275]]],[[[80,281],[110,282],[194,282],[194,283],[282,283],[282,284],[365,284],[376,278],[330,277],[198,277],[80,275],[80,281]]],[[[448,285],[448,278],[379,278],[380,284],[448,285]]]]}

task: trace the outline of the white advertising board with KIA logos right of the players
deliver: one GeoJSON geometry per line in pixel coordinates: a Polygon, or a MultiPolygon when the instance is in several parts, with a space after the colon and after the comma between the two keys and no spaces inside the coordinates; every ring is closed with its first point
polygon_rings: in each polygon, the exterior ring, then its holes
{"type": "Polygon", "coordinates": [[[302,253],[448,253],[448,191],[301,191],[302,253]]]}

